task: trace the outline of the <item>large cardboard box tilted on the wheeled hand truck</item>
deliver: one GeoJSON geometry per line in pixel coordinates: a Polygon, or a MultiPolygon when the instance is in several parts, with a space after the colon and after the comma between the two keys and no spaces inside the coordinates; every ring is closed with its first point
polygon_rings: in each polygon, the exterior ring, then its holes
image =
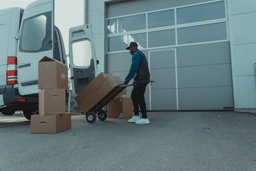
{"type": "Polygon", "coordinates": [[[120,84],[122,80],[119,77],[101,73],[76,96],[75,100],[82,111],[87,113],[120,84]]]}

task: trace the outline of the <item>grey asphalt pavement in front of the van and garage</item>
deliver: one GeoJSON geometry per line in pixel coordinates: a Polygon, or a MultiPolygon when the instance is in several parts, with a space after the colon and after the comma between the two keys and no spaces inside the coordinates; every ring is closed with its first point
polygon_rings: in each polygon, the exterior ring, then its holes
{"type": "Polygon", "coordinates": [[[256,170],[256,116],[155,112],[151,124],[108,118],[30,134],[24,117],[0,116],[0,170],[256,170]]]}

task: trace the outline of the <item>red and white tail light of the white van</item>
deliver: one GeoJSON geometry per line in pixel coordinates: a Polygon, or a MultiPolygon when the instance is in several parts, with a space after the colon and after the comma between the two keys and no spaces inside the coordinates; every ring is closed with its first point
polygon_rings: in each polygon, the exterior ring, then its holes
{"type": "Polygon", "coordinates": [[[7,59],[6,82],[7,82],[7,85],[18,84],[16,57],[8,57],[7,59]]]}

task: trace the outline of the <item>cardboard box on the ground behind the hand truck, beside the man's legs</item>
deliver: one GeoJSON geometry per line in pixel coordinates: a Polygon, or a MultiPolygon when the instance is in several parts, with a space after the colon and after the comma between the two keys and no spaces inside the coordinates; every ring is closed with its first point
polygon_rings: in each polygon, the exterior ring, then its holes
{"type": "Polygon", "coordinates": [[[108,104],[108,117],[130,118],[133,117],[133,102],[131,98],[113,99],[108,104]]]}

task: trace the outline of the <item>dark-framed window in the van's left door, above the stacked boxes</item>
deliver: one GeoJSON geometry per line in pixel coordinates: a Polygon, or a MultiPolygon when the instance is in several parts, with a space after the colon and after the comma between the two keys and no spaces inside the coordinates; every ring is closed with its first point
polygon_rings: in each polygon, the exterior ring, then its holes
{"type": "Polygon", "coordinates": [[[52,12],[27,18],[22,24],[20,52],[42,52],[52,49],[52,12]]]}

